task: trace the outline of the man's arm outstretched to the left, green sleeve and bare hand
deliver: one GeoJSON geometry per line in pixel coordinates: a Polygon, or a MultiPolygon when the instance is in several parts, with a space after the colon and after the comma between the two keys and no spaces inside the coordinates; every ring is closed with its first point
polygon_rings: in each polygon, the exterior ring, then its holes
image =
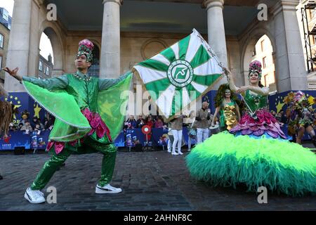
{"type": "Polygon", "coordinates": [[[68,85],[67,75],[62,75],[60,77],[54,77],[51,79],[37,79],[34,77],[22,77],[18,75],[19,68],[15,68],[14,70],[10,70],[9,68],[4,68],[4,71],[8,72],[9,75],[18,79],[18,81],[27,81],[32,84],[37,84],[44,89],[52,90],[52,89],[65,89],[68,85]]]}

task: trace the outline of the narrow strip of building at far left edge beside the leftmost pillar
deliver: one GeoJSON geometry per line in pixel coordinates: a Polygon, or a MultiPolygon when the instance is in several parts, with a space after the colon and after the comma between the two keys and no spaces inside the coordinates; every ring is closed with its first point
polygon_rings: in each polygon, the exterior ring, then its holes
{"type": "Polygon", "coordinates": [[[8,41],[11,30],[11,16],[5,8],[0,8],[0,82],[4,83],[5,74],[2,70],[6,66],[8,41]]]}

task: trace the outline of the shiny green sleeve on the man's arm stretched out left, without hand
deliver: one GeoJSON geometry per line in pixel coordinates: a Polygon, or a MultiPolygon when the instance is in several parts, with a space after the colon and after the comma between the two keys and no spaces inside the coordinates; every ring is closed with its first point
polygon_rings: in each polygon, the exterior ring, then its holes
{"type": "Polygon", "coordinates": [[[67,75],[62,75],[60,77],[54,77],[51,79],[37,79],[34,77],[22,77],[23,81],[30,82],[32,84],[37,84],[38,86],[47,89],[65,89],[68,85],[67,75]]]}

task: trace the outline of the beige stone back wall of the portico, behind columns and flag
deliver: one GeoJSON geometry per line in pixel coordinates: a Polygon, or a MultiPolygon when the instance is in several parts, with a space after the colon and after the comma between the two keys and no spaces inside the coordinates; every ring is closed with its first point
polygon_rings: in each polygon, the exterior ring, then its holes
{"type": "MultiPolygon", "coordinates": [[[[188,34],[160,34],[146,32],[121,32],[121,74],[131,70],[133,65],[154,56],[163,49],[168,48],[188,34]]],[[[207,39],[207,36],[204,37],[207,39]]],[[[78,43],[82,39],[90,39],[100,48],[101,32],[68,32],[65,49],[65,72],[74,72],[75,54],[78,43]]],[[[231,49],[230,62],[237,72],[239,68],[239,44],[237,41],[228,41],[231,49]]],[[[55,53],[54,53],[55,54],[55,53]]],[[[119,75],[115,75],[118,77],[119,75]]],[[[113,78],[115,78],[113,77],[113,78]]]]}

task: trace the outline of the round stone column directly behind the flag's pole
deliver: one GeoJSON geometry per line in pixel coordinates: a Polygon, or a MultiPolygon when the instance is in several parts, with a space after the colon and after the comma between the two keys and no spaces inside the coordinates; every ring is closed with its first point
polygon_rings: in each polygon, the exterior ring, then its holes
{"type": "MultiPolygon", "coordinates": [[[[223,66],[228,66],[228,56],[225,37],[225,26],[223,18],[224,0],[206,0],[204,1],[207,11],[207,30],[209,45],[218,57],[223,66]]],[[[220,84],[227,82],[224,77],[213,90],[217,90],[220,84]]]]}

